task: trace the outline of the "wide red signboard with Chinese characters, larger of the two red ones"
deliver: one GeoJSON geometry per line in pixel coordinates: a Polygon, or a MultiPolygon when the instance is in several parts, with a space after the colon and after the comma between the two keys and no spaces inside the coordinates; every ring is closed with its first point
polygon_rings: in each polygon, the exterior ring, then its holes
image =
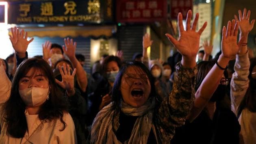
{"type": "Polygon", "coordinates": [[[118,22],[154,22],[167,16],[167,0],[117,0],[118,22]]]}

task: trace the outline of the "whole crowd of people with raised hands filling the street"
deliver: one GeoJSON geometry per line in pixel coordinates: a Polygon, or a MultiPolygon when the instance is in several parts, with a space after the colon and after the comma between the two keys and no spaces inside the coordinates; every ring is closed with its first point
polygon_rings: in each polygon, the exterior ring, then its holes
{"type": "Polygon", "coordinates": [[[167,61],[148,58],[145,34],[133,61],[103,55],[90,76],[73,39],[47,41],[28,58],[33,38],[11,28],[15,53],[0,59],[0,143],[255,143],[256,59],[247,48],[255,20],[239,10],[213,58],[207,41],[199,51],[207,22],[196,31],[199,14],[191,18],[189,10],[184,28],[179,13],[179,38],[166,34],[178,51],[167,61]]]}

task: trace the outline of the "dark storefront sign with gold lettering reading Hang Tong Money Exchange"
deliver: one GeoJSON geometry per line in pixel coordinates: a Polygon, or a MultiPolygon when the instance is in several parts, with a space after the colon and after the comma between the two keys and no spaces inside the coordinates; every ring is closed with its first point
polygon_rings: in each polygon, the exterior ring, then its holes
{"type": "Polygon", "coordinates": [[[112,21],[112,0],[9,2],[8,23],[102,23],[112,21]]]}

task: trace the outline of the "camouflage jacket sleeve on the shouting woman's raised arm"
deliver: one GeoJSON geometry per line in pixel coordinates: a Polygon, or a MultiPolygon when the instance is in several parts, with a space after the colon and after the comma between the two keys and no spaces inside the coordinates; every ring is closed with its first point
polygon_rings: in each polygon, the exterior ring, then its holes
{"type": "Polygon", "coordinates": [[[158,143],[169,143],[176,127],[184,125],[195,100],[195,76],[197,67],[183,68],[176,65],[173,89],[168,97],[156,105],[153,131],[158,143]]]}

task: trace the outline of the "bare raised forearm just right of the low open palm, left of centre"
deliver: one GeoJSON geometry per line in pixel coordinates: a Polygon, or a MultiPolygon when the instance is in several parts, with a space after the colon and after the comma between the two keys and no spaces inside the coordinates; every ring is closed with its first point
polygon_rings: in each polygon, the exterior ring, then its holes
{"type": "Polygon", "coordinates": [[[69,58],[69,59],[73,67],[76,68],[76,75],[78,78],[78,83],[80,85],[80,88],[82,89],[83,92],[85,92],[88,84],[87,74],[85,70],[82,68],[82,66],[80,65],[79,61],[76,59],[76,57],[69,58]]]}

